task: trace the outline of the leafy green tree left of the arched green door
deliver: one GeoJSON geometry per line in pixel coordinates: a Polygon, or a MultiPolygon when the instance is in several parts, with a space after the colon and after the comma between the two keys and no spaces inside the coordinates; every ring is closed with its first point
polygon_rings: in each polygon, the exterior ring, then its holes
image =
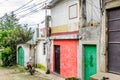
{"type": "Polygon", "coordinates": [[[4,66],[16,64],[16,47],[17,44],[26,43],[31,40],[33,32],[27,25],[18,24],[18,19],[11,13],[5,14],[0,20],[0,46],[2,51],[2,61],[4,66]],[[7,60],[7,61],[6,61],[7,60]]]}

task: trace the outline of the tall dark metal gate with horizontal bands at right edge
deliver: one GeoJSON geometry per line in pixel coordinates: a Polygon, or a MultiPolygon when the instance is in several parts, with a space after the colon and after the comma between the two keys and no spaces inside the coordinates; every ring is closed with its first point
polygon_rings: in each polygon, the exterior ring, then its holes
{"type": "Polygon", "coordinates": [[[108,71],[120,74],[120,8],[108,12],[108,71]]]}

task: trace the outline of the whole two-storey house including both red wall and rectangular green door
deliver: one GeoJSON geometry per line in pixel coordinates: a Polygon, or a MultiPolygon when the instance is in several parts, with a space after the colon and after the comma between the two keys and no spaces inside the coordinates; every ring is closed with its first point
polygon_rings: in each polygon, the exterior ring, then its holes
{"type": "Polygon", "coordinates": [[[89,80],[99,71],[100,1],[86,0],[83,4],[86,4],[86,18],[79,1],[52,0],[48,5],[51,9],[50,70],[64,78],[89,80]]]}

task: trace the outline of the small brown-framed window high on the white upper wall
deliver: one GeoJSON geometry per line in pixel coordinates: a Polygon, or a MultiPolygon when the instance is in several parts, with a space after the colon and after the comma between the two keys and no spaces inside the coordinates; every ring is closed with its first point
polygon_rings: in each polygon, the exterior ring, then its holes
{"type": "Polygon", "coordinates": [[[69,6],[69,19],[74,19],[78,17],[77,8],[78,8],[77,3],[69,6]]]}

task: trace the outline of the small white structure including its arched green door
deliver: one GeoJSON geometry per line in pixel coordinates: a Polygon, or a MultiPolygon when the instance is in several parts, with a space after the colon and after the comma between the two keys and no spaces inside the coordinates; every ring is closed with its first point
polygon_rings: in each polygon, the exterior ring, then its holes
{"type": "Polygon", "coordinates": [[[26,66],[27,62],[32,62],[34,64],[33,49],[31,49],[29,44],[19,44],[17,45],[17,63],[20,66],[26,66]]]}

